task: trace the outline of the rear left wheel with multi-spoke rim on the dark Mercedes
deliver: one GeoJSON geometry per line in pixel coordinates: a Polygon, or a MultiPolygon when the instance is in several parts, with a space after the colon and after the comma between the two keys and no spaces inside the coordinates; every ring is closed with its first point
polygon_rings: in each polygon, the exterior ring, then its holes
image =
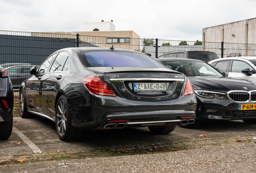
{"type": "Polygon", "coordinates": [[[60,96],[55,111],[56,129],[60,140],[73,141],[78,140],[83,135],[83,131],[74,129],[71,125],[70,111],[68,110],[66,97],[60,96]]]}

